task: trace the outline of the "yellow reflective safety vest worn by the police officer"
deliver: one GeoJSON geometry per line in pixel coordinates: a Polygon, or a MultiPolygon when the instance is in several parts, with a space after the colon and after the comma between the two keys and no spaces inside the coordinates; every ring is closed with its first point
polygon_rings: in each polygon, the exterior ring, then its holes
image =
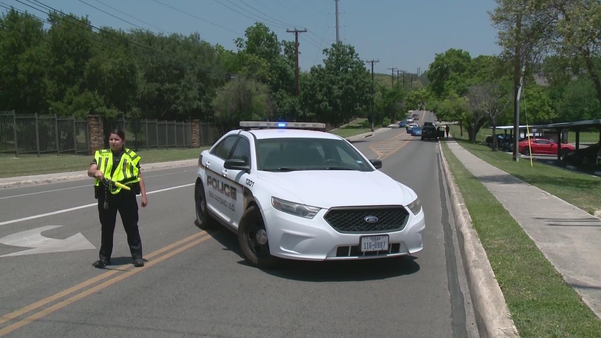
{"type": "MultiPolygon", "coordinates": [[[[127,148],[123,149],[121,161],[119,161],[112,176],[113,153],[111,149],[96,150],[94,159],[96,159],[98,170],[102,171],[102,174],[109,180],[114,180],[115,182],[124,185],[140,181],[140,177],[138,176],[138,162],[140,161],[140,155],[136,154],[133,150],[127,148]]],[[[99,185],[100,181],[94,177],[94,186],[99,185]]],[[[121,191],[121,188],[110,185],[110,191],[111,194],[118,194],[121,191]]]]}

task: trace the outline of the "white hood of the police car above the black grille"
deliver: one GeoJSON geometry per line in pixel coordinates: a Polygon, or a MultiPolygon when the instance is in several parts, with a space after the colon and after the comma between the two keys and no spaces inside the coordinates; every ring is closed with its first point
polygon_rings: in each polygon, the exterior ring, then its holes
{"type": "Polygon", "coordinates": [[[410,188],[401,186],[378,170],[259,171],[257,176],[299,198],[300,201],[294,202],[325,209],[390,204],[406,206],[416,198],[410,188]]]}

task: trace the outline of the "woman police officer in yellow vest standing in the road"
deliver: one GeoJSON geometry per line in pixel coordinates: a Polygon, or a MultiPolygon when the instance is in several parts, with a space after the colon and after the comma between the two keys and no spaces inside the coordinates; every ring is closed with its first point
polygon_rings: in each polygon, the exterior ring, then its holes
{"type": "Polygon", "coordinates": [[[117,211],[121,215],[123,227],[127,233],[127,244],[132,253],[133,265],[144,266],[142,260],[142,240],[138,231],[138,201],[136,195],[142,195],[141,206],[148,204],[146,189],[140,170],[140,156],[125,146],[125,133],[119,129],[109,135],[110,149],[97,150],[94,161],[88,169],[88,176],[94,177],[94,194],[98,199],[98,213],[102,224],[100,259],[93,263],[102,268],[111,263],[113,233],[117,211]],[[131,188],[130,191],[114,184],[105,184],[104,179],[119,182],[131,188]]]}

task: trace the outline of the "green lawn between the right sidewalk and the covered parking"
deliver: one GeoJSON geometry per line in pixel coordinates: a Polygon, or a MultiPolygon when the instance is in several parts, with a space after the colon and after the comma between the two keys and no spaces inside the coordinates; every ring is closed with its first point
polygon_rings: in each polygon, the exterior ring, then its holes
{"type": "Polygon", "coordinates": [[[601,178],[579,174],[548,164],[520,158],[516,163],[510,153],[493,152],[487,146],[457,140],[469,152],[517,178],[537,186],[562,200],[594,214],[601,210],[601,178]]]}

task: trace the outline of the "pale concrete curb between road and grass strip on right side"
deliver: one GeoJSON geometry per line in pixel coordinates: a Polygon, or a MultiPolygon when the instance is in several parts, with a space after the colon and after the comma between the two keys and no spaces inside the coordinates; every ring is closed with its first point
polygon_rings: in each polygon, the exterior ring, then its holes
{"type": "Polygon", "coordinates": [[[486,251],[472,227],[463,196],[457,187],[453,174],[448,167],[447,159],[442,152],[442,144],[438,143],[442,157],[442,168],[447,179],[448,192],[451,197],[453,217],[457,227],[457,238],[462,251],[463,262],[468,277],[469,290],[474,303],[474,311],[478,318],[478,327],[484,337],[519,337],[517,328],[505,303],[505,297],[496,281],[495,272],[490,266],[486,251]]]}

